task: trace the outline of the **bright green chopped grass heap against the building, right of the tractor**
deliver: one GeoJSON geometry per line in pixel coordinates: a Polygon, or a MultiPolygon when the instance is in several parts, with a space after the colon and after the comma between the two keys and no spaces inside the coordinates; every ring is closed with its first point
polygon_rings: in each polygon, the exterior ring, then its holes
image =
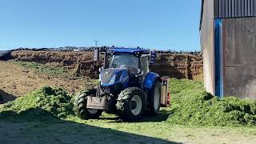
{"type": "Polygon", "coordinates": [[[170,80],[170,123],[185,126],[256,126],[256,101],[207,94],[202,82],[170,80]]]}

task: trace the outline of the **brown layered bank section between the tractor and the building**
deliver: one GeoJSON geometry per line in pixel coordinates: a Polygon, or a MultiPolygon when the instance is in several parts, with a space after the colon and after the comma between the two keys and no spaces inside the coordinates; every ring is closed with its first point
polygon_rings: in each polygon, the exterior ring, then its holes
{"type": "Polygon", "coordinates": [[[202,80],[202,56],[196,54],[158,54],[152,71],[170,78],[202,80]]]}

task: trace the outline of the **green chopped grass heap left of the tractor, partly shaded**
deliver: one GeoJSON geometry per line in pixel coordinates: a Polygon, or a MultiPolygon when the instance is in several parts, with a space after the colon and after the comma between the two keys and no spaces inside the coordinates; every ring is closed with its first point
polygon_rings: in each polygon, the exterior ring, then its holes
{"type": "Polygon", "coordinates": [[[64,90],[45,86],[4,104],[0,107],[0,118],[31,120],[67,118],[74,114],[71,101],[72,98],[64,90]]]}

